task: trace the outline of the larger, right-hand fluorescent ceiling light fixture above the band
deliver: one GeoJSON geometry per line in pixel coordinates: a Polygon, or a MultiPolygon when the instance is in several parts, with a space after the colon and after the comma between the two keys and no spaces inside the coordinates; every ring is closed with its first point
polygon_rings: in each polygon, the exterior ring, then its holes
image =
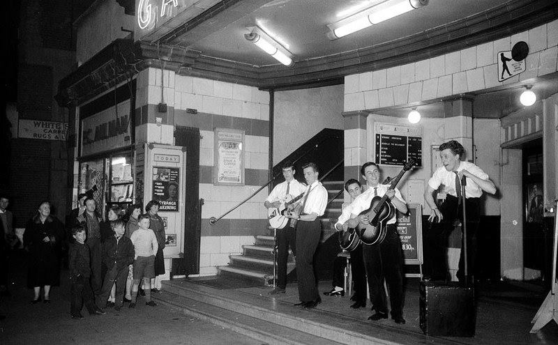
{"type": "Polygon", "coordinates": [[[330,40],[336,40],[426,5],[428,0],[386,0],[339,22],[329,24],[330,31],[327,36],[330,40]]]}

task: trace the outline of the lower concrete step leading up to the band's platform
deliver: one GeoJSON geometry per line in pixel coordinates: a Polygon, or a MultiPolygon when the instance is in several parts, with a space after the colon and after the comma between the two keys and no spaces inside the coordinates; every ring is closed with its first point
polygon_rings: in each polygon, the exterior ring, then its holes
{"type": "Polygon", "coordinates": [[[167,305],[183,312],[185,315],[209,321],[220,327],[257,339],[264,344],[340,344],[169,291],[164,291],[158,295],[154,296],[154,299],[162,305],[167,305]]]}

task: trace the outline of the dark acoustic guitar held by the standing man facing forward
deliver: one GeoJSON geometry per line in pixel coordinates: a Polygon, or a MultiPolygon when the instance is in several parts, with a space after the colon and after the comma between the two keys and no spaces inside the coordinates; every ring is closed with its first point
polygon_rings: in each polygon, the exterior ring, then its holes
{"type": "MultiPolygon", "coordinates": [[[[389,189],[393,190],[399,183],[402,176],[406,171],[412,168],[415,164],[413,159],[409,160],[405,167],[400,171],[398,176],[391,180],[389,189]]],[[[368,215],[368,223],[366,226],[359,224],[356,227],[356,234],[365,245],[374,245],[375,243],[382,243],[386,238],[386,222],[395,215],[395,206],[391,204],[387,194],[383,197],[373,197],[370,201],[370,208],[363,210],[360,215],[368,215]]]]}

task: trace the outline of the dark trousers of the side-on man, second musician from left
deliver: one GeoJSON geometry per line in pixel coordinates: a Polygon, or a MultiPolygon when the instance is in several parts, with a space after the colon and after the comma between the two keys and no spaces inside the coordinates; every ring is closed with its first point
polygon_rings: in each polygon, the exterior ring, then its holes
{"type": "Polygon", "coordinates": [[[319,298],[316,275],[314,273],[314,254],[318,247],[322,228],[319,218],[313,222],[296,224],[296,279],[299,284],[299,300],[310,302],[319,298]]]}

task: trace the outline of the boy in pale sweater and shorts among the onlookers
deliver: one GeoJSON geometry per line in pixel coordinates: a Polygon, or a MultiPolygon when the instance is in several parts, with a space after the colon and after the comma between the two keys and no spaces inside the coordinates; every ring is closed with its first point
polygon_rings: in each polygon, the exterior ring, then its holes
{"type": "Polygon", "coordinates": [[[149,229],[149,215],[140,215],[137,218],[140,229],[132,233],[130,239],[134,245],[135,261],[133,266],[132,302],[128,307],[135,308],[137,288],[140,281],[144,281],[145,304],[155,307],[151,300],[151,278],[155,277],[155,255],[159,245],[153,230],[149,229]]]}

